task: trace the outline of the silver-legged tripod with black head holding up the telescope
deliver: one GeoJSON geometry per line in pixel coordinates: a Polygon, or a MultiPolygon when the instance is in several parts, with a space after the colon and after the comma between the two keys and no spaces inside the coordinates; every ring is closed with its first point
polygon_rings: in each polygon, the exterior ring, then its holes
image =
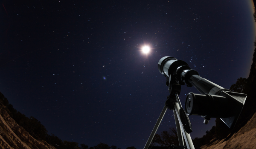
{"type": "Polygon", "coordinates": [[[148,141],[147,141],[144,149],[164,149],[164,148],[166,148],[166,149],[195,149],[192,139],[189,135],[189,133],[192,132],[192,127],[191,127],[189,118],[186,115],[186,112],[184,111],[184,109],[182,108],[182,106],[180,104],[180,99],[178,96],[180,94],[180,89],[181,89],[181,87],[179,84],[172,84],[172,87],[171,87],[171,85],[169,85],[170,95],[167,96],[165,106],[163,107],[163,110],[157,120],[157,123],[154,126],[154,129],[151,132],[151,135],[148,138],[148,141]],[[150,146],[150,144],[154,138],[154,135],[157,132],[157,129],[163,119],[163,116],[166,113],[167,108],[169,108],[170,110],[173,110],[180,146],[150,146]],[[184,140],[186,142],[186,146],[184,146],[183,136],[184,136],[184,140]]]}

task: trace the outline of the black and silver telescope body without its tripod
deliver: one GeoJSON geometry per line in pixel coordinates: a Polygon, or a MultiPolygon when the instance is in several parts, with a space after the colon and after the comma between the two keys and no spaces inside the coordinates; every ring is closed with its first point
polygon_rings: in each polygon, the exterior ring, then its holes
{"type": "Polygon", "coordinates": [[[203,94],[187,95],[185,102],[187,115],[201,115],[206,120],[221,118],[228,127],[233,129],[243,109],[246,94],[234,93],[200,77],[199,73],[192,70],[186,62],[174,57],[165,56],[160,59],[158,70],[166,77],[166,86],[186,84],[188,87],[194,86],[203,94]]]}

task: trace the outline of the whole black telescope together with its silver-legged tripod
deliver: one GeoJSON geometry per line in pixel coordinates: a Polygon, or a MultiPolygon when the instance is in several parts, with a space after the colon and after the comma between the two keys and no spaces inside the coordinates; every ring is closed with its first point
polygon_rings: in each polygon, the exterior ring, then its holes
{"type": "Polygon", "coordinates": [[[204,118],[204,124],[208,124],[211,118],[220,118],[230,129],[234,128],[244,107],[246,94],[232,92],[202,78],[186,62],[174,57],[161,58],[158,62],[158,70],[166,77],[166,86],[169,87],[170,95],[167,96],[165,106],[144,149],[195,149],[189,135],[192,132],[189,115],[200,115],[204,118]],[[181,85],[185,84],[187,87],[194,86],[201,94],[188,93],[184,110],[178,95],[180,95],[181,85]],[[150,146],[167,109],[174,112],[179,146],[150,146]]]}

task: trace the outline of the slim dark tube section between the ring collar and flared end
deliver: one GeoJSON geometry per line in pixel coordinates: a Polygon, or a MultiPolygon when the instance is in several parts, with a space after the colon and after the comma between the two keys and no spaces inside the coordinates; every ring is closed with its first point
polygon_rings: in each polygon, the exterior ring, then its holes
{"type": "Polygon", "coordinates": [[[190,76],[189,83],[191,83],[202,94],[216,95],[215,93],[224,89],[223,87],[198,75],[190,76]]]}

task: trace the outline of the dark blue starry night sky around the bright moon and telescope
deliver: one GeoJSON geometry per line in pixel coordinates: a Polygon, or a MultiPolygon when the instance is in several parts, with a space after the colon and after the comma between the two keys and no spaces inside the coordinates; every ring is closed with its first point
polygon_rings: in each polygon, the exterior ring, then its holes
{"type": "MultiPolygon", "coordinates": [[[[163,109],[173,56],[224,88],[248,77],[251,0],[3,0],[0,91],[61,140],[142,149],[163,109]],[[144,54],[141,48],[151,51],[144,54]]],[[[199,93],[182,86],[180,99],[199,93]]],[[[189,116],[191,137],[215,125],[189,116]]],[[[157,131],[175,127],[167,110],[157,131]]]]}

